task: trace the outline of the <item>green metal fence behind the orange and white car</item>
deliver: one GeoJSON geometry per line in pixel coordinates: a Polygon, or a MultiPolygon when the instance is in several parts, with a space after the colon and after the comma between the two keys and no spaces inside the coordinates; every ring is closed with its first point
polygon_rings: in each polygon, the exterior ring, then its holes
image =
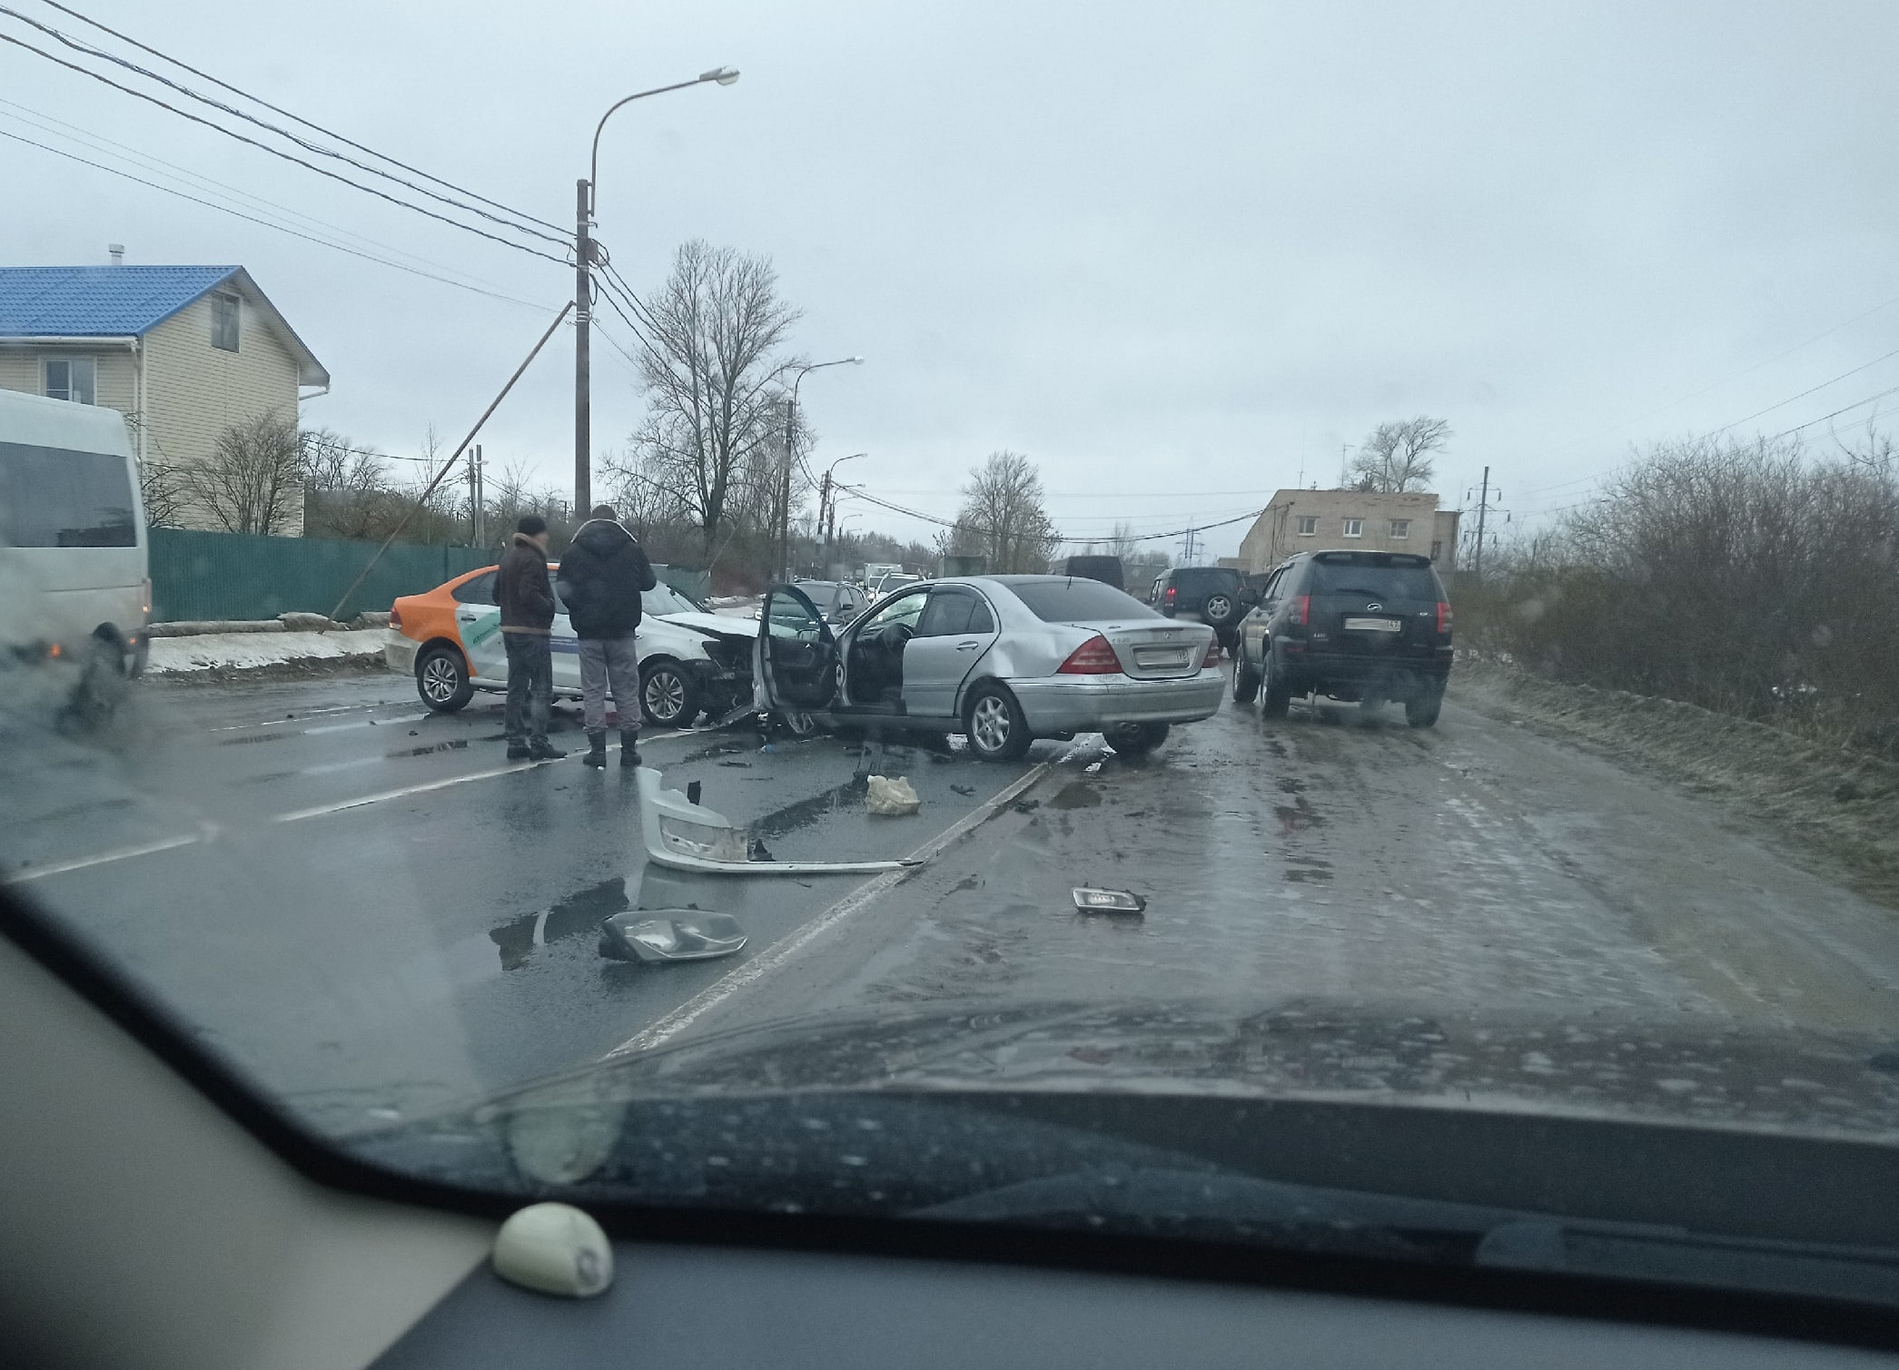
{"type": "MultiPolygon", "coordinates": [[[[152,620],[329,613],[374,554],[376,543],[154,528],[152,620]]],[[[391,546],[349,596],[342,617],[387,609],[399,594],[431,590],[498,558],[499,548],[391,546]]]]}

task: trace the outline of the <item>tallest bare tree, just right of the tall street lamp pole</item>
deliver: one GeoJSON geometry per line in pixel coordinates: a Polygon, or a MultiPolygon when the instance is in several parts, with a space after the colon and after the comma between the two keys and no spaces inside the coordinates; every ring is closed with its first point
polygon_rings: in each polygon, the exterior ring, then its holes
{"type": "Polygon", "coordinates": [[[638,311],[646,421],[640,469],[680,491],[710,558],[746,463],[782,440],[769,416],[798,309],[779,300],[763,256],[703,241],[672,254],[672,273],[638,311]]]}

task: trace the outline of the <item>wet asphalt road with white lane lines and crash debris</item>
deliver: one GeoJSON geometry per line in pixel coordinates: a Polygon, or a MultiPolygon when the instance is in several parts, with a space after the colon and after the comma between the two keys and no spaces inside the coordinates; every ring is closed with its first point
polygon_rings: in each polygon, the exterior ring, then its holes
{"type": "MultiPolygon", "coordinates": [[[[1455,694],[1453,694],[1455,700],[1455,694]]],[[[577,746],[572,710],[556,742],[577,746]]],[[[406,681],[144,687],[103,744],[11,727],[0,869],[325,1127],[623,1047],[936,1002],[1327,1002],[1381,1013],[1890,1032],[1899,922],[1770,837],[1455,702],[1434,731],[1231,702],[1151,759],[893,751],[868,818],[837,738],[648,734],[667,784],[780,860],[904,856],[1029,780],[906,880],[648,871],[632,774],[509,767],[499,704],[406,681]],[[1073,884],[1145,916],[1079,915],[1073,884]],[[602,960],[625,907],[737,915],[739,958],[602,960]]],[[[613,757],[617,761],[617,757],[613,757]]]]}

